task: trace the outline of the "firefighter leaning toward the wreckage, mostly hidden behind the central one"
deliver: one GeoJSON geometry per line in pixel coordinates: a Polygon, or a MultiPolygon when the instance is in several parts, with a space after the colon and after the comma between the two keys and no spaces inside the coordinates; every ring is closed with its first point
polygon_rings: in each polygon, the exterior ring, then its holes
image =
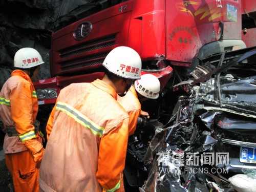
{"type": "MultiPolygon", "coordinates": [[[[147,112],[141,110],[140,102],[147,99],[157,99],[160,92],[160,82],[155,75],[144,74],[137,79],[129,92],[124,97],[118,97],[117,101],[123,106],[130,116],[129,136],[133,135],[137,124],[146,123],[143,117],[149,117],[147,112]]],[[[148,125],[150,126],[150,125],[148,125]]]]}

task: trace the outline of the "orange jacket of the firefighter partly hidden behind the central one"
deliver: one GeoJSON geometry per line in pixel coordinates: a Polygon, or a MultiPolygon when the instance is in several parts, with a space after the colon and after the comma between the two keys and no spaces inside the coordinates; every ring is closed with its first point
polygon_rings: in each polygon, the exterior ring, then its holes
{"type": "Polygon", "coordinates": [[[124,97],[117,96],[117,101],[129,114],[129,136],[131,136],[136,130],[137,119],[141,114],[141,104],[134,86],[131,86],[131,88],[124,97]]]}

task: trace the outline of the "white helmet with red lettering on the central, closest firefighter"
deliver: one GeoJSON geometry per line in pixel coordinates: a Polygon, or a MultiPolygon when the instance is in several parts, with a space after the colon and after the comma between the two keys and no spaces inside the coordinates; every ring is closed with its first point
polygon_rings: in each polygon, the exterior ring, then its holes
{"type": "Polygon", "coordinates": [[[102,65],[110,72],[127,79],[140,79],[141,58],[130,47],[117,47],[104,59],[102,65]]]}

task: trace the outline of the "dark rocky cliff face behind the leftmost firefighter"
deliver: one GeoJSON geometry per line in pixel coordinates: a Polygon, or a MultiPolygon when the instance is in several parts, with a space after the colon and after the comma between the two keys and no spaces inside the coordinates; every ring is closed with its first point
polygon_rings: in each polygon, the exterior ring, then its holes
{"type": "Polygon", "coordinates": [[[0,88],[20,48],[36,49],[45,61],[38,79],[50,77],[51,31],[62,0],[0,0],[0,88]]]}

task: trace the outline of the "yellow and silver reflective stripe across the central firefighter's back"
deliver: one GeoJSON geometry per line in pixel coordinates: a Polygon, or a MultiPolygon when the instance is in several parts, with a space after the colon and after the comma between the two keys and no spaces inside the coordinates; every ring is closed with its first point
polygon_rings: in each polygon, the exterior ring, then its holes
{"type": "Polygon", "coordinates": [[[78,110],[76,110],[69,104],[58,101],[56,104],[56,110],[66,113],[76,122],[90,129],[94,135],[99,135],[99,137],[102,137],[104,133],[104,128],[92,122],[89,118],[81,114],[78,110]]]}

